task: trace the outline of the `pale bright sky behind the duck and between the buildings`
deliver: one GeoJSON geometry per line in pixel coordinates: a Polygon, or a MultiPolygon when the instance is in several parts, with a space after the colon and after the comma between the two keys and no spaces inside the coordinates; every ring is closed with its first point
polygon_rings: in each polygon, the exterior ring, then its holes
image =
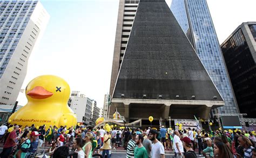
{"type": "MultiPolygon", "coordinates": [[[[220,43],[242,22],[256,21],[255,0],[208,0],[220,43]]],[[[118,0],[41,1],[50,15],[49,23],[33,50],[22,88],[43,74],[68,81],[103,106],[109,92],[116,35],[118,0]]],[[[171,0],[166,0],[171,4],[171,0]]],[[[24,94],[18,98],[25,105],[24,94]]]]}

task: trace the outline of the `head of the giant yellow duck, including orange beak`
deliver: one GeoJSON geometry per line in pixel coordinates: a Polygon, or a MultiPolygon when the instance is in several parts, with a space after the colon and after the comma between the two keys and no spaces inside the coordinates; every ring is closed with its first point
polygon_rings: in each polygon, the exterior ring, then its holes
{"type": "Polygon", "coordinates": [[[66,81],[55,75],[41,75],[26,86],[26,98],[32,102],[67,103],[70,87],[66,81]]]}

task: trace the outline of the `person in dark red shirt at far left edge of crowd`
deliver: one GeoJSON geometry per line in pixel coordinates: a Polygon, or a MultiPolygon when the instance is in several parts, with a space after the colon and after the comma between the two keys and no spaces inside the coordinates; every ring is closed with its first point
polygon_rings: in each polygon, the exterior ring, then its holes
{"type": "Polygon", "coordinates": [[[9,155],[12,152],[12,149],[17,145],[16,143],[16,131],[19,129],[19,126],[14,126],[14,130],[10,132],[8,135],[8,138],[6,139],[6,142],[4,143],[3,151],[0,154],[0,157],[9,157],[9,155]]]}

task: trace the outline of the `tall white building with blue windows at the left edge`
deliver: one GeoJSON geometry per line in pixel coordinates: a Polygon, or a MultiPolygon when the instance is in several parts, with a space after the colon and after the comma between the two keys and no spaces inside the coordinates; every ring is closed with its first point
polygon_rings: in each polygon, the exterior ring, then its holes
{"type": "Polygon", "coordinates": [[[38,1],[0,1],[0,105],[15,104],[49,18],[38,1]]]}

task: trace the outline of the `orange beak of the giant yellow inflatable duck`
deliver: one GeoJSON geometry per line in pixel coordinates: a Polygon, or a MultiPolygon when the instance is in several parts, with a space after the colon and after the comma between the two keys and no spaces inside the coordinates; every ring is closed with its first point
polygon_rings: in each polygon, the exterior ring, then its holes
{"type": "Polygon", "coordinates": [[[44,87],[36,86],[31,91],[29,91],[28,94],[31,98],[34,99],[45,99],[51,97],[53,95],[52,92],[46,91],[44,87]]]}

